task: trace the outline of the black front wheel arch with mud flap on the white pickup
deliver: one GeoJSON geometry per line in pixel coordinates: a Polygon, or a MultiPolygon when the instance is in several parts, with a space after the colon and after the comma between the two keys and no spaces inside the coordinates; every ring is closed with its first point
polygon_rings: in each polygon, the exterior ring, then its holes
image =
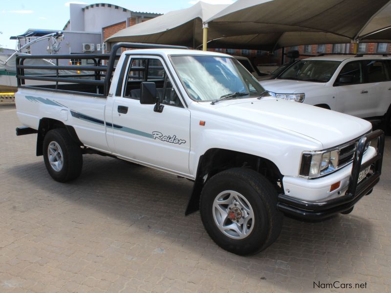
{"type": "Polygon", "coordinates": [[[235,150],[210,148],[199,157],[193,191],[185,214],[188,215],[199,209],[201,190],[209,178],[218,172],[234,167],[254,169],[264,175],[275,188],[282,188],[283,176],[272,161],[235,150]]]}

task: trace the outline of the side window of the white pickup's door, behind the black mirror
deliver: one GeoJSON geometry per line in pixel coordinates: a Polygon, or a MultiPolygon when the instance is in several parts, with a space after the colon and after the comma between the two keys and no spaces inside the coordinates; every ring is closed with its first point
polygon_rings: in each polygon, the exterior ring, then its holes
{"type": "Polygon", "coordinates": [[[148,81],[156,84],[157,98],[162,104],[183,106],[158,59],[132,58],[125,80],[125,98],[140,100],[141,83],[148,81]]]}

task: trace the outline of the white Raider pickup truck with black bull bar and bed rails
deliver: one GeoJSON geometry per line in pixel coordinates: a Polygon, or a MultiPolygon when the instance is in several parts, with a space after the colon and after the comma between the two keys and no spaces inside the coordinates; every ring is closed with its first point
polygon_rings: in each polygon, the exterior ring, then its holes
{"type": "Polygon", "coordinates": [[[48,56],[17,59],[17,135],[38,133],[57,181],[76,179],[90,153],[190,179],[186,214],[199,209],[211,238],[241,255],[269,246],[283,214],[349,213],[379,181],[384,134],[365,120],[268,96],[225,54],[137,43],[111,52],[51,55],[94,61],[56,67],[67,76],[25,74],[46,67],[24,60],[48,56]]]}

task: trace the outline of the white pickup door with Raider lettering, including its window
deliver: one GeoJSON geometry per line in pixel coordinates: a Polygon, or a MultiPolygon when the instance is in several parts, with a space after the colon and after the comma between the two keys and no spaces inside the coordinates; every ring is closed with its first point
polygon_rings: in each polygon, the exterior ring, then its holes
{"type": "Polygon", "coordinates": [[[189,174],[190,111],[160,57],[131,56],[121,95],[114,99],[116,155],[175,174],[189,174]],[[141,82],[154,82],[163,111],[140,104],[141,82]]]}

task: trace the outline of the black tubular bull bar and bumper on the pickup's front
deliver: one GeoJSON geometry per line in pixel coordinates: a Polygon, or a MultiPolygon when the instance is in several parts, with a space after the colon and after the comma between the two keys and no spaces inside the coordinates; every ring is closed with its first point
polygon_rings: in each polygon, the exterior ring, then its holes
{"type": "MultiPolygon", "coordinates": [[[[285,214],[307,220],[323,220],[334,214],[351,209],[364,195],[370,193],[379,182],[384,152],[384,132],[373,131],[363,136],[357,145],[351,174],[344,195],[318,201],[303,200],[291,195],[280,194],[277,207],[285,214]],[[368,142],[377,141],[376,154],[362,163],[365,146],[368,142]],[[365,179],[358,182],[361,170],[370,166],[370,172],[365,179]]],[[[335,172],[335,173],[338,173],[335,172]]]]}

